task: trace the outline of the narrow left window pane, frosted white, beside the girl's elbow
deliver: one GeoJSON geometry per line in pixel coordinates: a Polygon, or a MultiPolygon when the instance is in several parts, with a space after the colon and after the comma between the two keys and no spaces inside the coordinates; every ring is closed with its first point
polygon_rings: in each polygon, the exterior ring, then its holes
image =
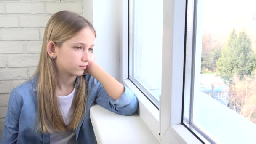
{"type": "Polygon", "coordinates": [[[158,108],[162,79],[163,0],[130,0],[129,3],[129,79],[158,108]]]}

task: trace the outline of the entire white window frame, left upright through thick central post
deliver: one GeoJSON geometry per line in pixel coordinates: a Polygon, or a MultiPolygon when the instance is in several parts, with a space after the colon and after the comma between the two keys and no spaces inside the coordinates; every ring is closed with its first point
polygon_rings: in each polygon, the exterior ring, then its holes
{"type": "Polygon", "coordinates": [[[181,125],[186,0],[163,0],[160,111],[128,80],[128,5],[128,0],[122,0],[121,82],[137,95],[138,114],[161,144],[170,141],[201,143],[184,125],[181,125]]]}

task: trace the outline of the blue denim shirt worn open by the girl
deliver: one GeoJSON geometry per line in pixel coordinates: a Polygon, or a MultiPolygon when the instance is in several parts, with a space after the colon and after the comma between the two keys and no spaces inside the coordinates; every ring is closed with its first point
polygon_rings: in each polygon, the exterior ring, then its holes
{"type": "MultiPolygon", "coordinates": [[[[138,108],[138,101],[126,86],[119,99],[112,99],[96,78],[89,74],[83,76],[88,85],[88,101],[86,114],[75,130],[75,139],[77,144],[96,144],[90,119],[90,107],[93,103],[121,115],[132,115],[138,108]]],[[[50,144],[50,133],[35,132],[37,77],[38,75],[11,91],[0,144],[50,144]]],[[[78,80],[79,77],[75,81],[76,87],[79,85],[78,80]]]]}

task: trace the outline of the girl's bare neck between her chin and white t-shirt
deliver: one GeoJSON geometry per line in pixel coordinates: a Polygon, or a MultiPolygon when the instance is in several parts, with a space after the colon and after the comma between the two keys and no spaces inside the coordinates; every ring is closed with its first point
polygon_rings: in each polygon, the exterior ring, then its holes
{"type": "Polygon", "coordinates": [[[75,88],[75,80],[77,76],[57,75],[56,94],[58,96],[67,96],[75,88]]]}

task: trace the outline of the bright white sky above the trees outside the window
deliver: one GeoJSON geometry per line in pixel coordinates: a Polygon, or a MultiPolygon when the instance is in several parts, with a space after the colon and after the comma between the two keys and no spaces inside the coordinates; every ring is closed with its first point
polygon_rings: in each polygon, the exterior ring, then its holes
{"type": "Polygon", "coordinates": [[[203,2],[202,25],[205,33],[217,40],[227,40],[235,28],[245,28],[256,48],[256,0],[201,0],[203,2]],[[253,19],[254,17],[254,19],[253,19]]]}

